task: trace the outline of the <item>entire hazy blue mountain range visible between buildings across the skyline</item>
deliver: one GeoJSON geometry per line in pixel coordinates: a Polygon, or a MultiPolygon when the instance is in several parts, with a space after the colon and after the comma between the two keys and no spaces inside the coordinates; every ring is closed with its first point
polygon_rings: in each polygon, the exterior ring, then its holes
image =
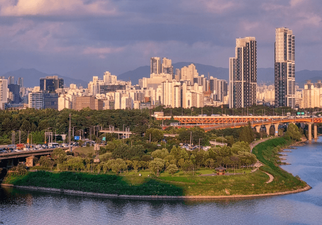
{"type": "MultiPolygon", "coordinates": [[[[177,62],[174,63],[174,71],[176,68],[182,68],[183,66],[188,66],[192,62],[177,62]]],[[[228,81],[228,68],[215,67],[212,65],[204,65],[199,63],[194,63],[199,75],[204,74],[206,78],[209,76],[226,80],[228,81]]],[[[47,74],[37,69],[25,69],[21,68],[15,71],[10,71],[3,74],[5,78],[10,76],[15,77],[17,81],[18,78],[24,78],[24,86],[25,87],[35,87],[39,86],[39,79],[44,78],[46,76],[58,76],[59,78],[64,79],[64,85],[69,86],[70,84],[81,85],[83,87],[87,87],[88,83],[92,81],[92,78],[89,78],[88,81],[83,81],[79,79],[73,79],[69,77],[60,76],[59,74],[47,74]]],[[[134,70],[124,72],[117,76],[118,80],[129,81],[131,80],[132,85],[138,84],[138,80],[146,77],[150,77],[150,66],[140,66],[134,70]]],[[[295,72],[296,84],[299,85],[300,88],[304,87],[306,80],[311,80],[312,83],[315,83],[317,80],[322,80],[322,70],[300,70],[295,72]]],[[[266,83],[266,84],[274,84],[274,68],[258,68],[257,69],[257,84],[266,83]]]]}

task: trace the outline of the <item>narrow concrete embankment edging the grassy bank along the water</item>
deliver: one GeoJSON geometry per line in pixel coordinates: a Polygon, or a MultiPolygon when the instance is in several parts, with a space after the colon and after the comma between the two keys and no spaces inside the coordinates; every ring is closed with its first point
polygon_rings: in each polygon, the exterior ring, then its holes
{"type": "Polygon", "coordinates": [[[99,197],[112,197],[112,198],[146,198],[146,199],[220,199],[220,198],[251,198],[251,197],[265,197],[265,196],[275,196],[275,195],[284,195],[284,194],[293,194],[298,192],[303,192],[311,189],[309,185],[306,185],[304,188],[297,189],[294,191],[285,191],[285,192],[276,192],[276,193],[267,193],[267,194],[252,194],[252,195],[220,195],[220,196],[159,196],[159,195],[117,195],[117,194],[104,194],[104,193],[93,193],[93,192],[84,192],[84,191],[74,191],[74,190],[65,190],[65,189],[56,189],[56,188],[44,188],[44,187],[34,187],[34,186],[14,186],[12,184],[1,184],[5,187],[15,187],[23,188],[37,191],[47,191],[47,192],[60,192],[66,194],[75,194],[75,195],[90,195],[90,196],[99,196],[99,197]]]}

